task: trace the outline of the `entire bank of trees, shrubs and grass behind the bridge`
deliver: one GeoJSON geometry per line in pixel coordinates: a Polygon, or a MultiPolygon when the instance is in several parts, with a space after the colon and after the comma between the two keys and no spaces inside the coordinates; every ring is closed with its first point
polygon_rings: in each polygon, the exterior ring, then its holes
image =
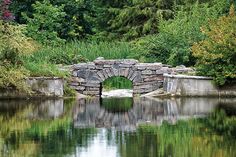
{"type": "Polygon", "coordinates": [[[87,62],[102,56],[174,66],[197,63],[199,74],[214,77],[220,85],[235,78],[235,60],[229,59],[235,58],[235,24],[225,16],[235,4],[233,0],[0,3],[0,64],[7,62],[15,69],[25,69],[30,76],[64,77],[57,64],[87,62]],[[209,22],[218,18],[221,22],[209,22]],[[227,42],[211,43],[212,32],[217,30],[225,33],[222,39],[227,42]],[[205,52],[203,43],[211,44],[211,49],[218,49],[224,57],[206,61],[207,54],[200,52],[205,52]]]}

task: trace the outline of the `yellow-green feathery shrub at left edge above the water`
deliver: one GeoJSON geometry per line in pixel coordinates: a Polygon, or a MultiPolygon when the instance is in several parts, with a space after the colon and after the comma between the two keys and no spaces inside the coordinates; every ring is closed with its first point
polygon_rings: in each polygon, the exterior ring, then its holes
{"type": "Polygon", "coordinates": [[[0,89],[29,93],[24,79],[29,75],[21,66],[21,56],[36,50],[37,45],[24,34],[24,27],[0,21],[0,89]]]}

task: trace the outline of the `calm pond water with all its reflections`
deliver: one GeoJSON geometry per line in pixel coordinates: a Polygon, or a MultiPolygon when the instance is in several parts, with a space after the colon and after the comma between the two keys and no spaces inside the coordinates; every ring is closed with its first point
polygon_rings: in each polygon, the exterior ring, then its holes
{"type": "Polygon", "coordinates": [[[235,113],[236,99],[0,101],[0,156],[234,157],[235,113]]]}

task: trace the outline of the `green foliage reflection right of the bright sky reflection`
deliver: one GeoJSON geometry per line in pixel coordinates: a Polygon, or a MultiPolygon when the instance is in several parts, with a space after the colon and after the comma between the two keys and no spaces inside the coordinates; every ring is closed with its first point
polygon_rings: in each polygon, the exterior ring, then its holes
{"type": "Polygon", "coordinates": [[[117,133],[122,157],[235,156],[234,139],[209,132],[199,120],[177,125],[140,126],[135,133],[117,133]]]}

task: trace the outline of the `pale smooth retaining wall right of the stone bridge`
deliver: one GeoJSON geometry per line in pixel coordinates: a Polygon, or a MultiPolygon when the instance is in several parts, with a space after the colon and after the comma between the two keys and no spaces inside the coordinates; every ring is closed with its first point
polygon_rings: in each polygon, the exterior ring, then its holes
{"type": "Polygon", "coordinates": [[[164,91],[178,96],[236,97],[236,83],[217,87],[210,77],[164,75],[164,91]]]}

